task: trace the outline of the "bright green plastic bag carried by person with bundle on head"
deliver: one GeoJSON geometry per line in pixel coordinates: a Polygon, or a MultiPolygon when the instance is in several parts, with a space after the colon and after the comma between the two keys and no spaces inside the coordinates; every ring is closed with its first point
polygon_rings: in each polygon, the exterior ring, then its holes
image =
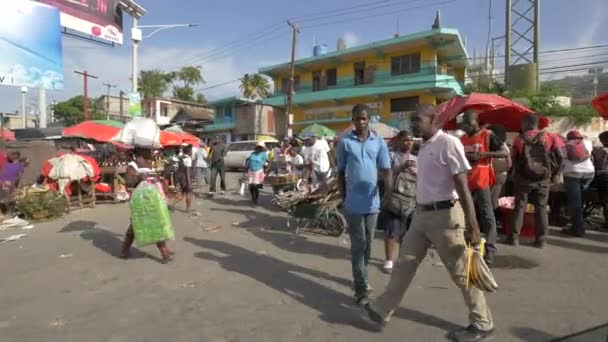
{"type": "Polygon", "coordinates": [[[131,195],[131,224],[139,247],[173,240],[169,208],[154,184],[141,182],[131,195]]]}

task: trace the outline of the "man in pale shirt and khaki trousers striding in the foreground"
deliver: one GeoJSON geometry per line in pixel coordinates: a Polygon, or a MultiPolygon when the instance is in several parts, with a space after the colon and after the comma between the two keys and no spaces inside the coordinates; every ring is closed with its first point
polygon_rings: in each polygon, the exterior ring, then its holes
{"type": "Polygon", "coordinates": [[[385,325],[401,303],[427,250],[434,245],[469,310],[469,326],[448,337],[453,341],[484,341],[493,337],[492,315],[484,293],[466,286],[465,228],[471,244],[478,247],[480,243],[467,182],[471,167],[460,140],[435,126],[436,115],[434,106],[423,106],[412,115],[414,135],[424,140],[417,161],[416,212],[385,292],[365,309],[373,322],[385,325]]]}

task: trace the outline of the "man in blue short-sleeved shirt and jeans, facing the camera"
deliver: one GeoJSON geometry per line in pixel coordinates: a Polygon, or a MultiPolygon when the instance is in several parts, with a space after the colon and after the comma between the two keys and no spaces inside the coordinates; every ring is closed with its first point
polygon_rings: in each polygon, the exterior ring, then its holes
{"type": "Polygon", "coordinates": [[[338,144],[338,186],[350,235],[351,263],[357,304],[368,302],[367,265],[380,212],[378,174],[384,181],[384,193],[392,192],[391,163],[382,137],[369,130],[370,108],[356,105],[352,110],[355,129],[338,144]]]}

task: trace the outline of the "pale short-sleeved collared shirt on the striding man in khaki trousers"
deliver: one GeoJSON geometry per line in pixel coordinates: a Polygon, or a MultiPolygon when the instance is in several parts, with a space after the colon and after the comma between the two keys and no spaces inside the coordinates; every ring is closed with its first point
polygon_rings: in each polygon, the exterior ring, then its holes
{"type": "Polygon", "coordinates": [[[417,156],[416,202],[431,204],[458,199],[453,176],[471,169],[464,146],[442,130],[425,141],[417,156]]]}

